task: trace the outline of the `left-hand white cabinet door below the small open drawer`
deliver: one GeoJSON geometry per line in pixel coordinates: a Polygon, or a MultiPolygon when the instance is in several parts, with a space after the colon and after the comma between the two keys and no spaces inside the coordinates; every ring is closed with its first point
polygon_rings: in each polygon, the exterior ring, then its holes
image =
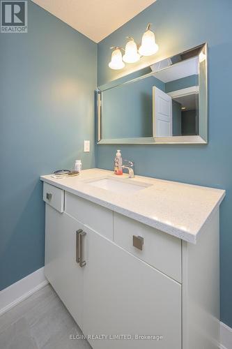
{"type": "Polygon", "coordinates": [[[76,231],[82,223],[46,205],[45,275],[82,327],[83,268],[76,262],[76,231]]]}

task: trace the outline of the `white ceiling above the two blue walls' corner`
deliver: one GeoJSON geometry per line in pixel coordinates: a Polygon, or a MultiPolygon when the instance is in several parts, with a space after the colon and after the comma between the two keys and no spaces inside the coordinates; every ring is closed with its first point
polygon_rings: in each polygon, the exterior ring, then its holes
{"type": "MultiPolygon", "coordinates": [[[[32,1],[95,43],[99,43],[156,0],[32,1]]],[[[144,23],[144,26],[146,24],[144,23]]]]}

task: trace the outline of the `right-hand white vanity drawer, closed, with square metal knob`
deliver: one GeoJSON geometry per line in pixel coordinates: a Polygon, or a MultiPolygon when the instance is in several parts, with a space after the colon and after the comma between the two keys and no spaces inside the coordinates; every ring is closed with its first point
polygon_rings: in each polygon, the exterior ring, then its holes
{"type": "Polygon", "coordinates": [[[177,237],[114,212],[114,242],[181,283],[181,240],[177,237]]]}

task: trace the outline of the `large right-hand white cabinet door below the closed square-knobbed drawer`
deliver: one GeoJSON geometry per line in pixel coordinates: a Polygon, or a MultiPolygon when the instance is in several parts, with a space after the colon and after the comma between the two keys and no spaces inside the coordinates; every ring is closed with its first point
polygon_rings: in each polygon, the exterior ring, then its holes
{"type": "Polygon", "coordinates": [[[93,230],[84,230],[83,331],[108,336],[107,340],[89,340],[93,349],[180,349],[180,283],[93,230]],[[112,335],[123,334],[129,337],[111,340],[112,335]],[[130,339],[136,335],[162,339],[130,339]]]}

